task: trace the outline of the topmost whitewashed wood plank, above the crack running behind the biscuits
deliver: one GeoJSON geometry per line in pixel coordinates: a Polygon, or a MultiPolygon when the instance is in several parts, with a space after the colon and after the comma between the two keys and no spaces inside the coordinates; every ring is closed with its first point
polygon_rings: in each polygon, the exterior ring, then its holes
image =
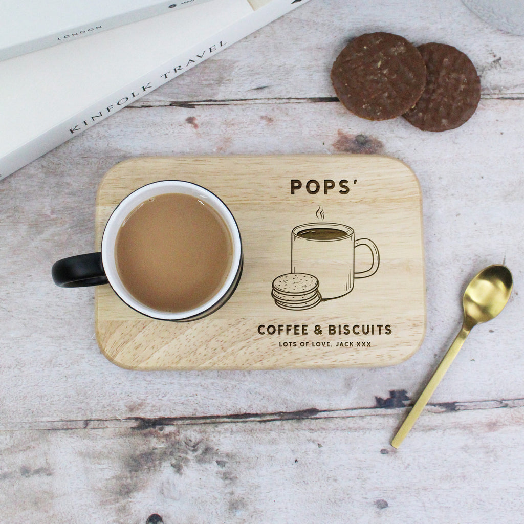
{"type": "Polygon", "coordinates": [[[207,100],[335,96],[331,65],[347,40],[388,31],[415,45],[443,42],[465,52],[483,96],[524,96],[524,38],[494,29],[460,0],[312,0],[143,97],[135,106],[207,100]]]}

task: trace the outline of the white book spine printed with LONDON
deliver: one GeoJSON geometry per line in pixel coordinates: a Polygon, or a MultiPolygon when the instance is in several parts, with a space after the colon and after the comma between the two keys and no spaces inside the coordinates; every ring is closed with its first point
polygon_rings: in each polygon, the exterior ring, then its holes
{"type": "Polygon", "coordinates": [[[81,26],[64,27],[60,32],[52,35],[45,35],[35,38],[34,40],[28,40],[14,46],[0,49],[0,61],[18,57],[21,54],[38,51],[39,49],[44,49],[46,47],[56,46],[59,43],[70,42],[84,36],[94,35],[100,31],[106,31],[107,29],[114,29],[115,27],[131,24],[139,20],[169,13],[173,11],[173,8],[178,10],[184,7],[202,4],[204,2],[209,2],[209,0],[182,0],[177,3],[164,1],[141,9],[134,9],[117,16],[101,18],[95,21],[86,21],[86,23],[81,26]]]}

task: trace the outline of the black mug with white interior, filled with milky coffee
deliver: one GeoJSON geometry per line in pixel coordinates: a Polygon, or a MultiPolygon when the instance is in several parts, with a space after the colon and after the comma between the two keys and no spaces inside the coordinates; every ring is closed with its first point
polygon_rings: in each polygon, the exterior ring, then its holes
{"type": "Polygon", "coordinates": [[[128,195],[107,222],[101,252],[59,260],[52,276],[62,287],[110,283],[140,313],[186,321],[222,307],[242,261],[227,206],[199,185],[171,180],[128,195]]]}

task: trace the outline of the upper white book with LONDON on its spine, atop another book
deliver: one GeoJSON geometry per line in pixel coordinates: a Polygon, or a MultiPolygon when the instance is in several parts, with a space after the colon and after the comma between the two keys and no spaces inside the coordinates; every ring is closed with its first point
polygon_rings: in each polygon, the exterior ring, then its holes
{"type": "Polygon", "coordinates": [[[0,0],[0,60],[207,0],[0,0]]]}

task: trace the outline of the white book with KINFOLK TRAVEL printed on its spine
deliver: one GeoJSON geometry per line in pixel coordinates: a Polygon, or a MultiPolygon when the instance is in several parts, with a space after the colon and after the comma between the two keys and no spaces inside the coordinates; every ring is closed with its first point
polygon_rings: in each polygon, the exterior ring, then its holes
{"type": "Polygon", "coordinates": [[[211,0],[0,62],[0,179],[307,0],[211,0]]]}

